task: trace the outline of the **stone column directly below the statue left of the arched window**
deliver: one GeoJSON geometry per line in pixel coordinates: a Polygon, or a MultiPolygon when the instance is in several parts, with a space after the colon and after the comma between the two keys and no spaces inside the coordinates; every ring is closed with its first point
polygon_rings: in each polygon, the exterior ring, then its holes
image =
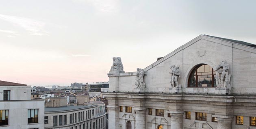
{"type": "Polygon", "coordinates": [[[171,129],[182,129],[182,116],[184,112],[169,112],[171,114],[171,129]]]}

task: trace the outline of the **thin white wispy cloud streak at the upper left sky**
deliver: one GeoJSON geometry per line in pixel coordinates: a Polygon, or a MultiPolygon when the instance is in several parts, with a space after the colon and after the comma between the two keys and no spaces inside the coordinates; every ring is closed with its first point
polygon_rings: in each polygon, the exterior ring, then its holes
{"type": "Polygon", "coordinates": [[[25,30],[29,31],[32,35],[45,35],[48,34],[43,28],[46,23],[42,21],[37,21],[34,19],[16,17],[11,15],[2,15],[0,14],[0,19],[9,21],[25,30]]]}

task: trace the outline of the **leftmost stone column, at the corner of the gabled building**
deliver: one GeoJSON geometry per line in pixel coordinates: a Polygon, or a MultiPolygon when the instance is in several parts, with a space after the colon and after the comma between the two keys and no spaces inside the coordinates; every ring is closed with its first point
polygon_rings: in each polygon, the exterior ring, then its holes
{"type": "Polygon", "coordinates": [[[118,127],[118,113],[119,107],[118,106],[107,106],[108,107],[108,129],[119,129],[118,127]]]}

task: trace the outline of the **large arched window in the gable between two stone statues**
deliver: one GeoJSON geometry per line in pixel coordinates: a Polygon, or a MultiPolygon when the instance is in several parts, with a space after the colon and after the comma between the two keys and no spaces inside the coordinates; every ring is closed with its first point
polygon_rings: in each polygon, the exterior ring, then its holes
{"type": "Polygon", "coordinates": [[[206,64],[196,66],[189,75],[188,87],[216,87],[213,68],[206,64]]]}

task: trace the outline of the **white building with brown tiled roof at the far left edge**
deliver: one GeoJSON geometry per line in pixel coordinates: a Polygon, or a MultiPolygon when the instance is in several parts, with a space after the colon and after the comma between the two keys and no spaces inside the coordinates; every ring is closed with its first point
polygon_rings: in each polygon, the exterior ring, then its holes
{"type": "Polygon", "coordinates": [[[44,129],[44,100],[25,84],[0,81],[0,129],[44,129]]]}

